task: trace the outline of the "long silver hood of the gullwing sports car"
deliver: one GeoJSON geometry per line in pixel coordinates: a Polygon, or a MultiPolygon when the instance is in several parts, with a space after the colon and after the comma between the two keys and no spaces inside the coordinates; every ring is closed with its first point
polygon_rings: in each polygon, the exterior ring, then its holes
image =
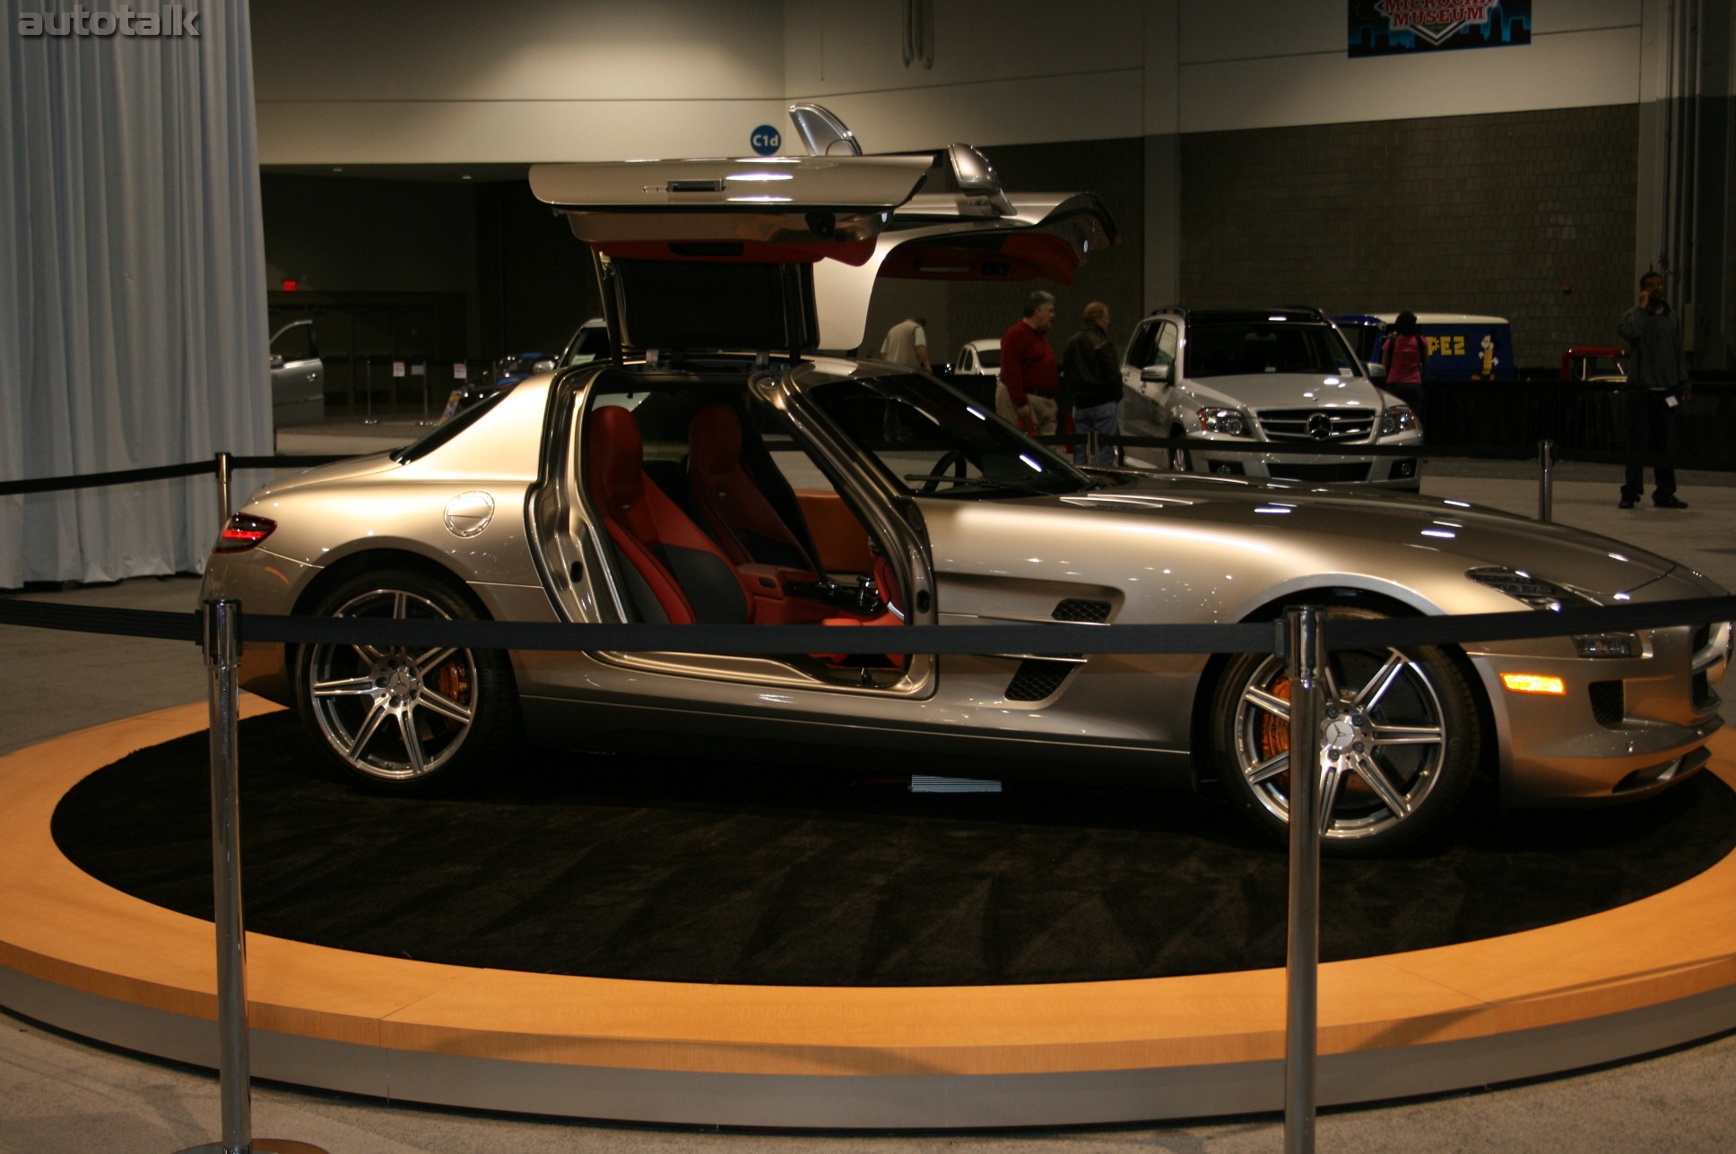
{"type": "MultiPolygon", "coordinates": [[[[1220,536],[1243,547],[1266,541],[1288,552],[1300,538],[1311,538],[1309,552],[1321,554],[1328,571],[1368,569],[1418,585],[1422,574],[1439,574],[1443,567],[1498,566],[1571,587],[1599,602],[1724,593],[1715,581],[1625,541],[1463,502],[1165,477],[1059,500],[1161,517],[1191,536],[1220,536]]],[[[1436,599],[1434,592],[1422,595],[1436,599]]],[[[1441,607],[1474,611],[1463,604],[1441,607]]]]}

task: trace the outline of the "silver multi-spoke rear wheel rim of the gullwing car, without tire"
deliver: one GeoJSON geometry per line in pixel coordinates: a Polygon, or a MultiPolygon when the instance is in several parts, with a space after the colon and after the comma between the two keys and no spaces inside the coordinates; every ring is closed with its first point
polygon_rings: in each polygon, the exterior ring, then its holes
{"type": "MultiPolygon", "coordinates": [[[[375,588],[332,616],[450,620],[427,597],[375,588]]],[[[306,701],[332,751],[377,781],[406,783],[439,770],[476,720],[477,668],[469,649],[312,646],[306,701]]]]}

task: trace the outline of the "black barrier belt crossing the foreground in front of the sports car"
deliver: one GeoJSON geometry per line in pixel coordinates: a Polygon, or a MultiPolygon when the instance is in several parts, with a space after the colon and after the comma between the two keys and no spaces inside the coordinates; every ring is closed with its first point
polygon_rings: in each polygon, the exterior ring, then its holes
{"type": "MultiPolygon", "coordinates": [[[[0,625],[198,640],[198,613],[106,609],[0,599],[0,625]]],[[[1736,620],[1736,597],[1698,597],[1647,604],[1542,613],[1330,620],[1333,649],[1443,646],[1491,640],[1628,632],[1736,620]]],[[[243,642],[299,646],[389,646],[535,649],[559,652],[899,652],[930,654],[1137,654],[1283,652],[1283,623],[1236,625],[634,625],[589,621],[411,621],[394,618],[314,618],[241,614],[243,642]]]]}

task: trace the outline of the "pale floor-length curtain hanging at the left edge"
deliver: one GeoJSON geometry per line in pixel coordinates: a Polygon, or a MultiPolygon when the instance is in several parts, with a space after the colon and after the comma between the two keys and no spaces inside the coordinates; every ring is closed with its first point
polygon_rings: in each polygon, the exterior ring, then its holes
{"type": "MultiPolygon", "coordinates": [[[[245,0],[83,0],[156,36],[0,3],[0,479],[269,453],[245,0]]],[[[0,588],[196,573],[215,531],[210,477],[0,496],[0,588]]]]}

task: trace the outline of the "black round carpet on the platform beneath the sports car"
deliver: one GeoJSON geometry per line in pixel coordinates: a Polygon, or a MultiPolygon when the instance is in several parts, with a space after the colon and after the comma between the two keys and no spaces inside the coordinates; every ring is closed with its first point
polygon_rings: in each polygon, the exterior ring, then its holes
{"type": "MultiPolygon", "coordinates": [[[[210,918],[196,734],[82,781],[54,817],[99,880],[210,918]]],[[[823,751],[816,751],[823,757],[823,751]]],[[[944,772],[941,765],[903,770],[944,772]]],[[[715,760],[538,753],[464,800],[375,797],[286,713],[241,724],[250,930],[455,965],[682,982],[1075,982],[1278,967],[1285,852],[1222,803],[901,781],[715,760]]],[[[1632,902],[1736,849],[1700,774],[1597,810],[1472,798],[1410,857],[1326,861],[1323,960],[1420,949],[1632,902]]]]}

